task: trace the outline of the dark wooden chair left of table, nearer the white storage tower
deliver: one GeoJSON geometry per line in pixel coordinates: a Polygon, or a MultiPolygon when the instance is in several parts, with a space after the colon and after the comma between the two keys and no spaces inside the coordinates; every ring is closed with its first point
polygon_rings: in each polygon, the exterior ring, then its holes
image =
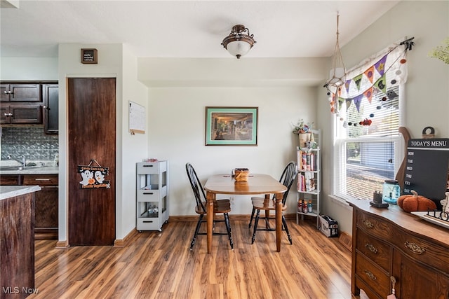
{"type": "MultiPolygon", "coordinates": [[[[207,213],[206,209],[206,193],[204,193],[203,186],[196,175],[194,167],[190,163],[185,165],[185,169],[187,171],[187,176],[189,176],[190,185],[192,186],[192,190],[194,191],[194,197],[196,201],[195,212],[199,214],[198,223],[196,223],[196,228],[194,232],[194,237],[192,238],[192,243],[190,244],[190,250],[192,250],[197,235],[206,235],[206,232],[199,232],[201,227],[201,223],[207,222],[207,218],[204,216],[207,213]]],[[[229,200],[215,200],[213,204],[213,212],[214,212],[214,221],[213,221],[213,235],[228,235],[229,244],[231,244],[231,249],[234,249],[234,242],[232,241],[231,235],[231,223],[229,223],[229,212],[231,211],[231,203],[229,200]],[[224,220],[215,219],[215,214],[223,214],[225,217],[224,220]],[[215,232],[215,223],[216,222],[225,222],[227,232],[215,232]]]]}

